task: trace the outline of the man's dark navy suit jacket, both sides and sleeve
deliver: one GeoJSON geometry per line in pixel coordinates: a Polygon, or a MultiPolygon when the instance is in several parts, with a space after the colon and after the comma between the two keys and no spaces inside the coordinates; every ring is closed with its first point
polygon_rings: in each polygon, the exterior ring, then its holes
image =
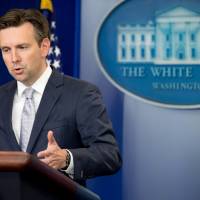
{"type": "MultiPolygon", "coordinates": [[[[12,129],[16,81],[0,87],[0,150],[21,151],[12,129]]],[[[74,180],[115,173],[121,166],[119,149],[98,88],[53,70],[35,116],[27,152],[47,147],[52,130],[61,148],[73,154],[74,180]]]]}

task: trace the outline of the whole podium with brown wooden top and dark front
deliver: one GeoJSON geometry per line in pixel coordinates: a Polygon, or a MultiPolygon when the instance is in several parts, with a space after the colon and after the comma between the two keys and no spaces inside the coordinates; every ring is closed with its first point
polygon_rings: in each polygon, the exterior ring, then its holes
{"type": "Polygon", "coordinates": [[[0,200],[100,200],[59,171],[24,152],[0,152],[0,200]]]}

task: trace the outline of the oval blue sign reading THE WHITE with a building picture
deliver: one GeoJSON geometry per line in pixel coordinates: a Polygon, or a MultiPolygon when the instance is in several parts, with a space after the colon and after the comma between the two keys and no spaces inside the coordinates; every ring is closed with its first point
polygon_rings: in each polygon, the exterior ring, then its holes
{"type": "Polygon", "coordinates": [[[134,97],[167,107],[199,107],[200,1],[173,4],[118,5],[99,29],[98,58],[109,80],[134,97]]]}

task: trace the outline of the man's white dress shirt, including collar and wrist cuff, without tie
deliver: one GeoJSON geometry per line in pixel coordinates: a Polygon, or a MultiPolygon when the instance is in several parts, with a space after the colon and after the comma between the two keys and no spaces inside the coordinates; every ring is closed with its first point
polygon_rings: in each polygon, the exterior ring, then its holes
{"type": "MultiPolygon", "coordinates": [[[[51,76],[51,73],[52,73],[52,69],[50,66],[48,66],[47,69],[40,76],[40,78],[31,86],[31,88],[35,90],[33,94],[33,99],[35,103],[36,112],[39,107],[40,101],[42,99],[42,95],[44,93],[46,84],[51,76]]],[[[13,108],[12,108],[12,127],[13,127],[18,143],[19,143],[19,137],[20,137],[20,131],[21,131],[22,110],[25,103],[25,96],[23,92],[26,88],[27,86],[17,81],[17,90],[14,95],[13,108]]],[[[73,171],[74,171],[74,162],[73,162],[72,153],[69,150],[68,152],[71,156],[71,161],[70,161],[69,167],[67,168],[67,170],[65,170],[65,172],[72,176],[73,171]]]]}

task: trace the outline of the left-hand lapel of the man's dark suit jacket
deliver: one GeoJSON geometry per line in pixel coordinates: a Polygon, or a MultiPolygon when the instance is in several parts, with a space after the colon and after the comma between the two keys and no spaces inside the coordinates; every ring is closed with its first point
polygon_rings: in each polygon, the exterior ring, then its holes
{"type": "Polygon", "coordinates": [[[16,81],[11,82],[11,84],[7,87],[6,91],[6,97],[4,101],[4,111],[3,113],[7,113],[4,115],[5,120],[3,120],[5,130],[8,130],[6,132],[8,141],[11,144],[12,150],[20,151],[21,148],[17,142],[17,139],[15,137],[13,128],[12,128],[12,107],[13,107],[13,99],[14,99],[14,94],[17,88],[17,83],[16,81]]]}

